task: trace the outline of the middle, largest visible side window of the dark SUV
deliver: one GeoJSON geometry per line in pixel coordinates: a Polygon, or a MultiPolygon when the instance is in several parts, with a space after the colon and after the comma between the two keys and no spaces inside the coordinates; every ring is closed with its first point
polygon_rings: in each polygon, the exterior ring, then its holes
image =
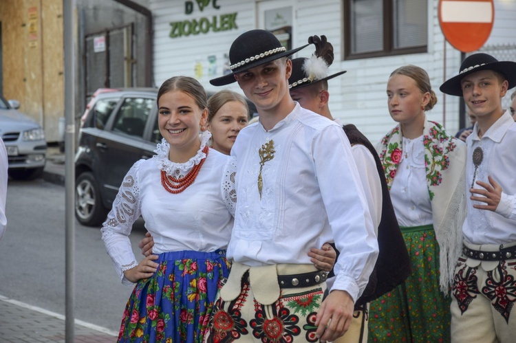
{"type": "Polygon", "coordinates": [[[143,137],[154,102],[155,99],[149,98],[126,98],[116,113],[113,131],[143,137]]]}

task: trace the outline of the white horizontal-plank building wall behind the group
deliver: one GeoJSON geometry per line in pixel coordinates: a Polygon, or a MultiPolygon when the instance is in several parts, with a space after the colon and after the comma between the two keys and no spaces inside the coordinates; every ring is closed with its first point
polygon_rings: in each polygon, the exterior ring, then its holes
{"type": "MultiPolygon", "coordinates": [[[[430,120],[444,123],[451,133],[459,129],[459,99],[444,96],[439,87],[447,78],[457,74],[460,52],[445,43],[438,21],[438,0],[428,1],[428,51],[424,54],[408,54],[360,60],[343,60],[343,5],[341,0],[213,0],[203,10],[193,3],[193,11],[185,13],[189,1],[149,0],[154,14],[155,82],[157,85],[175,75],[193,76],[207,90],[219,90],[209,84],[211,78],[221,76],[229,47],[242,32],[263,27],[259,21],[260,9],[277,3],[278,7],[292,5],[293,47],[307,43],[308,36],[325,34],[334,45],[335,60],[330,73],[347,70],[346,74],[329,81],[330,109],[334,117],[352,122],[369,140],[376,143],[395,122],[387,111],[385,88],[391,71],[402,65],[418,65],[427,70],[431,85],[438,96],[438,103],[427,113],[430,120]],[[199,21],[221,14],[237,12],[237,29],[224,32],[208,32],[171,38],[170,23],[199,21]],[[211,65],[208,56],[215,56],[211,65]],[[196,69],[197,66],[197,69],[196,69]],[[196,71],[197,70],[197,71],[196,71]],[[199,72],[202,70],[202,72],[199,72]]],[[[516,44],[516,1],[495,0],[495,23],[486,45],[516,44]]],[[[307,47],[294,57],[310,56],[313,46],[307,47]]],[[[239,91],[237,85],[228,88],[239,91]]]]}

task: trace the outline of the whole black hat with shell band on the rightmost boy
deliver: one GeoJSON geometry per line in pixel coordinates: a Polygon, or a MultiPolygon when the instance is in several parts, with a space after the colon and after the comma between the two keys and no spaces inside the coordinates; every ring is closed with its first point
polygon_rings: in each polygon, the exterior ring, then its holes
{"type": "Polygon", "coordinates": [[[447,93],[451,96],[462,96],[462,87],[460,82],[462,79],[472,73],[481,70],[493,70],[504,74],[509,88],[516,86],[516,62],[508,60],[499,61],[491,55],[478,53],[464,58],[462,65],[460,65],[459,74],[453,76],[444,82],[439,89],[442,93],[447,93]]]}

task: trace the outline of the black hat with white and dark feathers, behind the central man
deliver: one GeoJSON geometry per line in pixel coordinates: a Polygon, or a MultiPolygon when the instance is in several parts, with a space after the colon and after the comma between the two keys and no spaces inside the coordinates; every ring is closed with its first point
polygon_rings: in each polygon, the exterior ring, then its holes
{"type": "Polygon", "coordinates": [[[328,76],[328,67],[333,63],[334,54],[333,46],[327,41],[326,36],[310,36],[308,43],[315,45],[315,52],[310,58],[292,60],[292,74],[288,78],[288,88],[291,90],[330,80],[346,72],[343,70],[328,76]]]}

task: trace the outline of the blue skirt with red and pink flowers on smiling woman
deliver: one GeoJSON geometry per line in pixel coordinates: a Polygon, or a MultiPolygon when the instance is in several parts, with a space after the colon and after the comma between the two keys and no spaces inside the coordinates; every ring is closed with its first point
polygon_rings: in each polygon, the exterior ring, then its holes
{"type": "Polygon", "coordinates": [[[165,252],[158,270],[136,284],[118,342],[202,342],[213,302],[228,277],[225,251],[165,252]]]}

